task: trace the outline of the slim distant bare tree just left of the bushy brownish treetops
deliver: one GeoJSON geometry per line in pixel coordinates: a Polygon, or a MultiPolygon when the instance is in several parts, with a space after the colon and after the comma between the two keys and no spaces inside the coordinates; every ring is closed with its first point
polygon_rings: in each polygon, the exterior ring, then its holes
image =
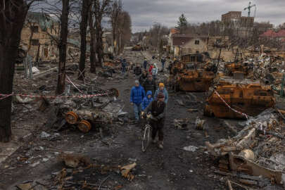
{"type": "Polygon", "coordinates": [[[113,34],[113,44],[114,44],[114,53],[117,55],[118,49],[118,20],[120,12],[122,11],[122,1],[116,0],[113,1],[110,11],[110,23],[112,26],[112,34],[113,34]]]}

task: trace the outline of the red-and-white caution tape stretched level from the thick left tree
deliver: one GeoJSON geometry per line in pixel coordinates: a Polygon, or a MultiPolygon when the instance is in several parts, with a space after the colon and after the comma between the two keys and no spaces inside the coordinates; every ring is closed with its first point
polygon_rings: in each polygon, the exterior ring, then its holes
{"type": "Polygon", "coordinates": [[[0,97],[4,96],[4,97],[0,98],[0,100],[6,99],[9,96],[23,96],[23,97],[29,97],[29,98],[46,98],[46,99],[56,99],[56,98],[60,98],[60,99],[91,99],[92,97],[95,97],[95,96],[105,96],[105,95],[108,95],[108,93],[104,93],[104,94],[83,94],[83,95],[77,95],[77,96],[42,96],[42,95],[33,95],[33,94],[0,94],[0,97]]]}

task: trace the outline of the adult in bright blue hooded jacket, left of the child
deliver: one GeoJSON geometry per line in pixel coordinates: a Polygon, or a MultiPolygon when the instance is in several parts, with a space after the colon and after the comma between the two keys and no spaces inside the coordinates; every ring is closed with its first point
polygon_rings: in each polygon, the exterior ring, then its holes
{"type": "Polygon", "coordinates": [[[141,102],[146,96],[144,88],[139,85],[139,81],[134,82],[134,87],[131,90],[130,102],[134,106],[134,117],[139,120],[139,113],[141,112],[141,102]]]}

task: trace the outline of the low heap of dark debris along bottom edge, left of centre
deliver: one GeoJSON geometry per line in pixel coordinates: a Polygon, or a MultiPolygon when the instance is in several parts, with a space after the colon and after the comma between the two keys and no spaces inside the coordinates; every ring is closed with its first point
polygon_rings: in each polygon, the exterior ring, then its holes
{"type": "Polygon", "coordinates": [[[137,163],[128,165],[99,165],[86,156],[62,153],[59,158],[66,167],[42,179],[17,184],[17,189],[122,189],[124,179],[132,181],[137,163]],[[121,175],[122,177],[119,177],[121,175]]]}

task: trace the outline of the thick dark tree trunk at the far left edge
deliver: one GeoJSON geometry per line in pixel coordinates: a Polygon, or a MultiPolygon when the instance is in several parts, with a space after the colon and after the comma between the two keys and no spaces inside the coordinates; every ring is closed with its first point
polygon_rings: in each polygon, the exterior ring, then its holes
{"type": "MultiPolygon", "coordinates": [[[[12,94],[20,34],[33,1],[0,1],[0,94],[12,94]]],[[[0,141],[11,139],[12,96],[0,96],[0,141]]]]}

